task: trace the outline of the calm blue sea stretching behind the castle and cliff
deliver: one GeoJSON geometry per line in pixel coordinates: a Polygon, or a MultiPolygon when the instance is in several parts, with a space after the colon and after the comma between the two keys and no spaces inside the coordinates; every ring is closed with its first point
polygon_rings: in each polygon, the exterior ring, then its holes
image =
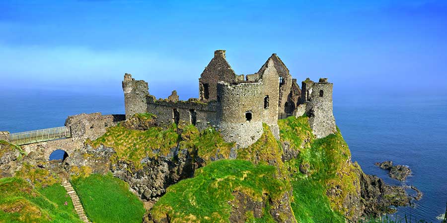
{"type": "MultiPolygon", "coordinates": [[[[69,115],[124,113],[122,92],[103,95],[64,91],[6,91],[0,95],[0,131],[22,132],[63,126],[69,115]]],[[[413,207],[390,218],[440,223],[447,202],[447,97],[334,96],[334,115],[365,173],[391,185],[414,185],[424,194],[413,207]],[[405,182],[374,163],[407,165],[405,182]]],[[[61,148],[63,149],[63,148],[61,148]]],[[[411,192],[411,191],[409,191],[411,192]]]]}

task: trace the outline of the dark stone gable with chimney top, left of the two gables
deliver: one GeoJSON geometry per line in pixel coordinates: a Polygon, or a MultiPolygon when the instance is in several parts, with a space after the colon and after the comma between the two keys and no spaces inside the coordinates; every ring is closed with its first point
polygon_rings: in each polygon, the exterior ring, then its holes
{"type": "MultiPolygon", "coordinates": [[[[240,77],[239,77],[240,78],[240,77]]],[[[199,98],[202,102],[217,100],[217,84],[219,81],[233,83],[236,73],[225,59],[225,51],[214,52],[214,58],[205,67],[199,78],[199,98]]]]}

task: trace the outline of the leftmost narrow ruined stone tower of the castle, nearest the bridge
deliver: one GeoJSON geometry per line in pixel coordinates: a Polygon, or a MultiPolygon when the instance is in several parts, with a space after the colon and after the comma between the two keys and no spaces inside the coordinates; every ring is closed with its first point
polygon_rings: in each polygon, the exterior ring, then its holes
{"type": "Polygon", "coordinates": [[[146,112],[146,97],[149,94],[146,81],[135,80],[131,74],[126,73],[124,74],[123,91],[126,117],[146,112]]]}

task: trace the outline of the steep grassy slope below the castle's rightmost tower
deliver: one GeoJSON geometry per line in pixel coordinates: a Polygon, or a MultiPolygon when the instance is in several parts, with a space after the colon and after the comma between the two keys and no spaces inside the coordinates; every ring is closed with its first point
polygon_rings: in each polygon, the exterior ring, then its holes
{"type": "Polygon", "coordinates": [[[294,188],[292,208],[298,222],[345,222],[348,216],[342,202],[350,193],[357,193],[351,154],[340,131],[322,139],[314,139],[307,117],[289,117],[279,121],[281,140],[299,150],[298,158],[287,162],[294,188]],[[300,164],[309,165],[309,174],[299,171],[300,164]],[[327,196],[326,190],[339,186],[338,196],[327,196]],[[335,210],[335,211],[333,211],[335,210]]]}

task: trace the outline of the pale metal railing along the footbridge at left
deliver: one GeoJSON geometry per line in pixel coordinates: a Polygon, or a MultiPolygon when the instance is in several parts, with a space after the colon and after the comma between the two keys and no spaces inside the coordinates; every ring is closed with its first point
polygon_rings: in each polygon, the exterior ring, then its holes
{"type": "Polygon", "coordinates": [[[15,145],[25,145],[36,142],[44,142],[55,139],[63,139],[71,137],[70,128],[66,126],[39,129],[27,132],[11,133],[9,141],[15,145]]]}

